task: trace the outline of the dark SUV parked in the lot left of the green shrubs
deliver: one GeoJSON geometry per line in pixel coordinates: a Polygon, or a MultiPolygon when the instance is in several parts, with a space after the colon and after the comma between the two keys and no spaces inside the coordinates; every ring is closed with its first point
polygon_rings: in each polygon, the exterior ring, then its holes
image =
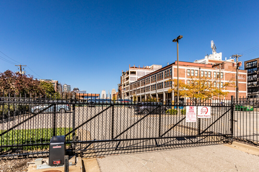
{"type": "Polygon", "coordinates": [[[159,108],[159,106],[157,106],[159,104],[162,105],[161,102],[142,102],[135,108],[135,112],[140,114],[148,114],[149,112],[152,112],[152,114],[166,114],[168,107],[161,106],[161,108],[159,108]]]}

